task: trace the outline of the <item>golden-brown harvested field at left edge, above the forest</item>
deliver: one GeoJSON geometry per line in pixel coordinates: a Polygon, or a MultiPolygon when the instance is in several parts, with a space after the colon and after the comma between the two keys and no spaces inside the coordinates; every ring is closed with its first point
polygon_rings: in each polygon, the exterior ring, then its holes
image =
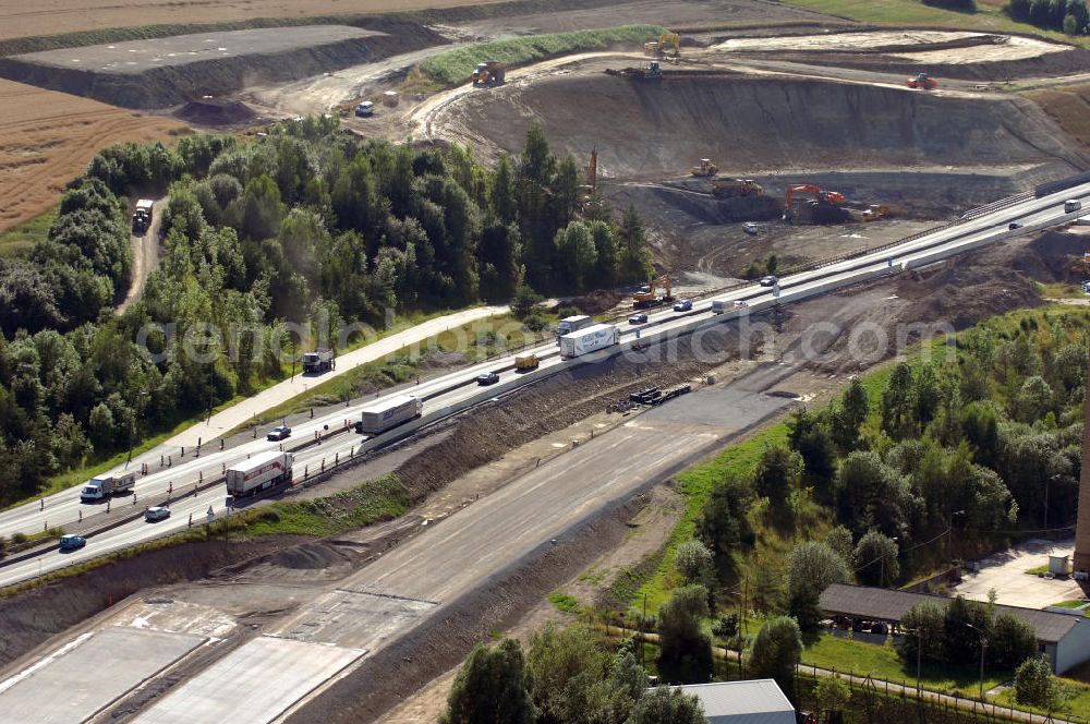
{"type": "Polygon", "coordinates": [[[0,80],[0,231],[41,214],[95,153],[185,126],[65,93],[0,80]]]}

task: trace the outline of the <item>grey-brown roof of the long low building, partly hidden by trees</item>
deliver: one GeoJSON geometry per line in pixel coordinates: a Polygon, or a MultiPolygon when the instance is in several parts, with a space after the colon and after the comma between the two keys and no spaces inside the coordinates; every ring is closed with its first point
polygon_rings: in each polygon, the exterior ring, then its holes
{"type": "MultiPolygon", "coordinates": [[[[899,622],[909,608],[919,603],[937,603],[945,606],[950,601],[953,599],[944,595],[909,593],[844,583],[833,583],[821,594],[821,607],[826,613],[892,623],[899,622]]],[[[1012,614],[1022,619],[1033,627],[1037,640],[1045,643],[1056,643],[1081,620],[1075,616],[1018,606],[996,605],[995,611],[996,613],[1012,614]]]]}

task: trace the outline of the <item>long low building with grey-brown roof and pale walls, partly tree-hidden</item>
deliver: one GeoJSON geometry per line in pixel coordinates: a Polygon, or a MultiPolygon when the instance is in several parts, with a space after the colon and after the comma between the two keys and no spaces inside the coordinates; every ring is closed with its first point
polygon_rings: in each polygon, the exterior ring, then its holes
{"type": "MultiPolygon", "coordinates": [[[[896,628],[912,606],[919,603],[946,606],[952,600],[927,593],[833,583],[822,592],[820,606],[831,616],[883,623],[896,628]]],[[[995,613],[1012,614],[1029,624],[1037,635],[1038,651],[1049,657],[1057,674],[1090,661],[1090,618],[1003,604],[996,604],[995,613]]]]}

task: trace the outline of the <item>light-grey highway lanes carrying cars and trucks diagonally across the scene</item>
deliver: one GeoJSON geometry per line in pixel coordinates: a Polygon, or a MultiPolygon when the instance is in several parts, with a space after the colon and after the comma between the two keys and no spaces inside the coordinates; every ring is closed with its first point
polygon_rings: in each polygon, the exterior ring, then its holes
{"type": "MultiPolygon", "coordinates": [[[[621,343],[613,350],[576,360],[561,360],[558,348],[555,345],[546,345],[535,350],[542,358],[541,366],[535,372],[516,373],[513,355],[511,355],[431,379],[409,390],[410,394],[424,399],[423,419],[374,439],[358,435],[351,429],[346,430],[359,419],[361,409],[375,402],[375,398],[358,400],[349,407],[316,417],[314,420],[294,427],[292,436],[283,443],[284,449],[293,449],[304,443],[312,442],[295,455],[294,476],[296,481],[300,481],[304,476],[304,471],[306,474],[312,474],[320,470],[323,463],[330,466],[335,460],[359,454],[361,449],[372,449],[384,445],[421,424],[434,422],[573,365],[593,363],[608,355],[626,352],[637,341],[638,334],[642,338],[641,341],[645,343],[669,339],[708,324],[737,319],[776,304],[801,301],[809,297],[897,274],[905,269],[918,268],[996,241],[1073,221],[1080,214],[1086,214],[1086,210],[1065,214],[1063,202],[1067,198],[1080,198],[1085,204],[1090,204],[1090,184],[1068,189],[1042,198],[1020,201],[876,253],[784,277],[777,289],[756,285],[739,287],[728,293],[695,303],[690,312],[678,313],[664,310],[650,313],[649,323],[645,325],[638,327],[622,325],[621,343]],[[1014,231],[1008,230],[1008,224],[1013,221],[1020,224],[1021,228],[1014,231]],[[722,315],[712,313],[713,301],[727,301],[729,303],[735,300],[742,300],[747,302],[748,306],[740,310],[729,310],[722,315]],[[491,387],[477,386],[475,378],[483,371],[497,372],[500,376],[499,383],[491,387]],[[343,432],[330,434],[337,431],[343,432]],[[313,442],[315,434],[323,436],[323,438],[313,442]]],[[[129,506],[136,515],[144,509],[148,502],[158,502],[170,490],[173,491],[174,496],[187,493],[185,497],[171,504],[172,516],[170,519],[147,523],[142,518],[137,518],[111,530],[92,535],[86,547],[72,553],[62,554],[56,550],[46,548],[39,555],[23,560],[19,559],[20,556],[12,556],[7,563],[0,564],[0,587],[11,586],[73,563],[87,560],[153,540],[166,533],[183,530],[190,522],[191,514],[194,524],[203,523],[209,509],[217,518],[229,515],[228,497],[223,484],[207,485],[207,483],[220,478],[225,468],[233,462],[256,452],[275,449],[279,445],[279,443],[258,438],[234,448],[219,450],[218,445],[205,443],[204,451],[199,457],[194,456],[192,448],[185,449],[183,457],[180,448],[159,447],[135,458],[130,469],[140,470],[142,464],[147,464],[149,471],[147,475],[137,479],[135,505],[132,497],[120,497],[111,502],[111,508],[113,506],[129,506]],[[215,449],[209,449],[210,447],[215,449]],[[170,460],[170,467],[166,467],[166,464],[160,467],[160,456],[164,461],[170,460]],[[205,490],[198,490],[194,494],[194,488],[201,486],[205,486],[205,490]]],[[[51,495],[41,503],[34,502],[0,514],[0,535],[10,538],[16,532],[36,533],[47,526],[70,526],[80,521],[81,517],[87,517],[98,511],[98,505],[80,503],[78,491],[80,486],[76,486],[51,495]]]]}

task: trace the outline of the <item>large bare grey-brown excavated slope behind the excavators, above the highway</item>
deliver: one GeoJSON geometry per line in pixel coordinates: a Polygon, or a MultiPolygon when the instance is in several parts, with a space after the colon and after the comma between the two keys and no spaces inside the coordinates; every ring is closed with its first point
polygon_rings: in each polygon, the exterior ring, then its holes
{"type": "Polygon", "coordinates": [[[561,154],[584,158],[596,146],[606,178],[657,180],[701,157],[719,159],[731,176],[1079,161],[1055,124],[1022,98],[729,74],[657,82],[591,72],[554,76],[469,94],[438,122],[448,126],[446,135],[517,152],[531,120],[561,154]]]}

